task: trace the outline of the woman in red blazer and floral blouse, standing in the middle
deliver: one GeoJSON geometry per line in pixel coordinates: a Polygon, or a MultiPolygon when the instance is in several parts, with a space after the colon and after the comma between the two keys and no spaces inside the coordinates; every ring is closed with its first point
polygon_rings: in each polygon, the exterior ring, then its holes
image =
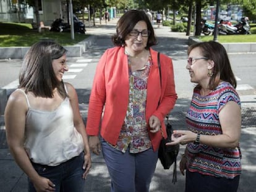
{"type": "Polygon", "coordinates": [[[147,192],[160,127],[166,137],[164,118],[177,99],[173,62],[160,54],[160,78],[155,33],[143,10],[124,13],[112,40],[96,68],[86,130],[92,152],[102,149],[111,191],[147,192]]]}

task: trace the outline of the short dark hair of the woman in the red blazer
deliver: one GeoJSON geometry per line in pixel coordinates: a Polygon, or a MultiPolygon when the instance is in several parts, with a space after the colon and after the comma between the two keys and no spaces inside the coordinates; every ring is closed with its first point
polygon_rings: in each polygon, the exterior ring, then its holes
{"type": "Polygon", "coordinates": [[[148,35],[148,43],[146,49],[149,49],[150,46],[157,44],[154,29],[145,11],[132,9],[125,12],[124,15],[122,15],[122,17],[118,20],[116,26],[116,34],[112,36],[112,41],[114,45],[124,46],[126,36],[129,35],[130,31],[132,31],[134,26],[139,21],[146,22],[148,31],[150,31],[150,35],[148,35]]]}

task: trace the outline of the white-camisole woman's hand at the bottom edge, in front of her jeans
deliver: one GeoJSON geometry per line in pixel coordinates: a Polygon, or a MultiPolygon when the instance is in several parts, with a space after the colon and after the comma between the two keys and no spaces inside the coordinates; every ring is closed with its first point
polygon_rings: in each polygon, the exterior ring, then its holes
{"type": "Polygon", "coordinates": [[[33,183],[36,191],[38,192],[51,192],[55,191],[55,185],[48,178],[40,177],[36,182],[33,183]]]}

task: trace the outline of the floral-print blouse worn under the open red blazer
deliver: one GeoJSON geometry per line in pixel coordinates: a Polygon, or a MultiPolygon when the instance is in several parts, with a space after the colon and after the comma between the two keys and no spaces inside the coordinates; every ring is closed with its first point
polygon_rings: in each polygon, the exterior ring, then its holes
{"type": "Polygon", "coordinates": [[[126,118],[122,125],[119,138],[114,148],[119,151],[137,153],[151,148],[151,141],[148,136],[147,122],[145,117],[147,99],[147,80],[152,65],[151,56],[147,64],[132,72],[129,64],[129,105],[126,118]]]}

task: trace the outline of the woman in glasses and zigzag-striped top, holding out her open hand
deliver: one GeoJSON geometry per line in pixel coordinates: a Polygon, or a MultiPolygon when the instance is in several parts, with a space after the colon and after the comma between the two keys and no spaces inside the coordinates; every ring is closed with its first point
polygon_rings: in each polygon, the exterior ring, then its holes
{"type": "Polygon", "coordinates": [[[215,41],[193,44],[187,70],[197,83],[186,115],[188,130],[173,142],[187,144],[180,162],[186,192],[237,191],[241,174],[241,101],[224,47],[215,41]]]}

